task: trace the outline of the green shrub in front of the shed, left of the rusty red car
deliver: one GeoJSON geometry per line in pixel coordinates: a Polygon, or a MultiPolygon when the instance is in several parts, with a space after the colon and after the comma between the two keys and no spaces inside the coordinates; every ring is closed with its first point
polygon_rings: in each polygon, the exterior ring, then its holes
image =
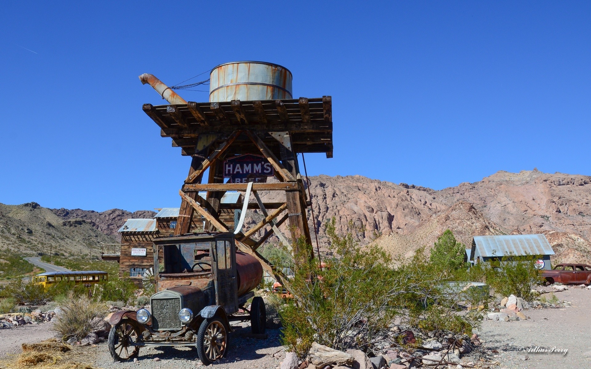
{"type": "Polygon", "coordinates": [[[531,301],[535,297],[531,292],[532,288],[542,282],[540,270],[535,269],[536,259],[538,258],[532,256],[515,260],[507,256],[496,266],[483,266],[486,283],[503,296],[515,295],[531,301]]]}

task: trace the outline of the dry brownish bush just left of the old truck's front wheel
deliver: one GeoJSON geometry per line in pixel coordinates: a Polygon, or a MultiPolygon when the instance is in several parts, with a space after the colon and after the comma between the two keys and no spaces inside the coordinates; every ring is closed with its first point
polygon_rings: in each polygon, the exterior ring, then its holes
{"type": "Polygon", "coordinates": [[[86,295],[76,296],[73,292],[59,303],[61,312],[53,330],[63,341],[70,337],[77,340],[85,338],[98,328],[98,319],[95,318],[103,319],[107,313],[104,303],[93,301],[86,295]]]}

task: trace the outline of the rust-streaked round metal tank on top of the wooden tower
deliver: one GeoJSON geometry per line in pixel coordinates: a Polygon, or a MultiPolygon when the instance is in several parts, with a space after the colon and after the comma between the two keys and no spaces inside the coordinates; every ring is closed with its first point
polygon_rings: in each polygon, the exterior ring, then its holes
{"type": "Polygon", "coordinates": [[[292,99],[291,72],[264,61],[232,61],[210,73],[209,101],[292,99]]]}

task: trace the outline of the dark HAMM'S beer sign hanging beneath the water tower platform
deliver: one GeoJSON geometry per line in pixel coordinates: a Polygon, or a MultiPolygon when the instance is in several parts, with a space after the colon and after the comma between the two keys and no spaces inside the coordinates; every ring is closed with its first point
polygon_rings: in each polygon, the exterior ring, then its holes
{"type": "Polygon", "coordinates": [[[265,156],[245,154],[223,162],[223,176],[230,183],[267,182],[275,174],[265,156]]]}

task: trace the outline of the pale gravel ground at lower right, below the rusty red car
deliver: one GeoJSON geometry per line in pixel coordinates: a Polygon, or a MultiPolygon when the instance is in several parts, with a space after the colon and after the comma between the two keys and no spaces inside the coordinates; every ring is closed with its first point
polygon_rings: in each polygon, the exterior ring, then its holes
{"type": "MultiPolygon", "coordinates": [[[[554,294],[573,303],[571,308],[530,309],[525,321],[484,321],[479,337],[487,356],[499,362],[498,368],[590,368],[591,367],[591,290],[571,286],[554,294]],[[530,347],[567,349],[556,352],[527,352],[530,347]],[[491,352],[490,350],[497,350],[491,352]],[[524,351],[525,350],[525,351],[524,351]],[[527,355],[527,356],[526,356],[527,355]],[[527,360],[524,360],[527,357],[527,360]]],[[[482,351],[482,350],[480,350],[482,351]]],[[[462,358],[478,362],[478,353],[462,358]]]]}

